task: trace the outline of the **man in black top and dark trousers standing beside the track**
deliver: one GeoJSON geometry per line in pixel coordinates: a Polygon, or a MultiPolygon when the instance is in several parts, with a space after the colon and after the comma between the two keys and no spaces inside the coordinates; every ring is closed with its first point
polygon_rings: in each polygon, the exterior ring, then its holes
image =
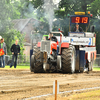
{"type": "Polygon", "coordinates": [[[10,68],[13,66],[13,64],[14,64],[14,68],[16,68],[17,57],[18,57],[18,54],[20,53],[20,46],[18,45],[18,40],[16,40],[15,44],[11,46],[11,52],[13,56],[12,56],[12,63],[10,64],[10,68]],[[15,62],[14,62],[14,59],[15,59],[15,62]]]}

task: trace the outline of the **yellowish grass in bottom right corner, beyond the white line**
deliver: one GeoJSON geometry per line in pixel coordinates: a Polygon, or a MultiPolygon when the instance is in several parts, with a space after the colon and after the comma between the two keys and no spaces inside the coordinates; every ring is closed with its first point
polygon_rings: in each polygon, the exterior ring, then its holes
{"type": "MultiPolygon", "coordinates": [[[[48,97],[46,100],[54,100],[54,97],[48,97]]],[[[84,93],[73,93],[68,96],[67,94],[62,94],[57,96],[57,100],[100,100],[100,90],[94,90],[84,93]]]]}

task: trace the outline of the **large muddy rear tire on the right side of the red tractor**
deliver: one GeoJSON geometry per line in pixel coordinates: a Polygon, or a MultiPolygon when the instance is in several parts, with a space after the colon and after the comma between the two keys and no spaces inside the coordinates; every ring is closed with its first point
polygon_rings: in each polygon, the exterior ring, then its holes
{"type": "Polygon", "coordinates": [[[62,49],[62,72],[63,73],[74,73],[75,72],[75,58],[76,50],[75,47],[69,45],[69,48],[62,49]]]}

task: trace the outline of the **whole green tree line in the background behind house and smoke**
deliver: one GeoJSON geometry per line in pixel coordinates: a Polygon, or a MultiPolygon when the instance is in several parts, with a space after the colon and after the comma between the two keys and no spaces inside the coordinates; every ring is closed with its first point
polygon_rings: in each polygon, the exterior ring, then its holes
{"type": "MultiPolygon", "coordinates": [[[[52,2],[54,0],[51,0],[52,2]]],[[[24,35],[13,29],[11,23],[14,19],[34,18],[41,22],[35,27],[36,31],[39,30],[41,34],[49,33],[49,24],[44,16],[44,0],[0,0],[0,35],[5,38],[7,48],[10,48],[11,44],[16,38],[19,38],[22,52],[24,35]],[[41,29],[41,25],[44,27],[41,29]],[[22,41],[23,40],[23,41],[22,41]]],[[[57,31],[58,28],[62,28],[64,35],[68,35],[69,31],[69,18],[68,14],[73,15],[75,11],[88,11],[93,14],[93,18],[90,21],[90,25],[95,26],[95,33],[97,34],[97,52],[100,53],[100,0],[59,0],[58,9],[54,10],[53,31],[57,31]]],[[[90,29],[88,29],[90,31],[90,29]]],[[[8,49],[8,54],[10,50],[8,49]]],[[[22,53],[21,53],[22,54],[22,53]]]]}

